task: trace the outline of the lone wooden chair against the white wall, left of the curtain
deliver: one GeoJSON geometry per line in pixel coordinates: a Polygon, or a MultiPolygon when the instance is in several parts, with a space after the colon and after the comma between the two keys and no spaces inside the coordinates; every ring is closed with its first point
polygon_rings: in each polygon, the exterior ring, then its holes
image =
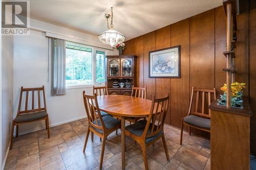
{"type": "Polygon", "coordinates": [[[38,88],[23,88],[22,86],[20,89],[17,115],[12,120],[10,150],[12,149],[14,126],[16,126],[16,137],[18,137],[19,125],[23,125],[31,122],[37,122],[40,120],[45,120],[48,138],[50,138],[49,118],[46,110],[45,87],[42,86],[38,88]],[[42,92],[42,104],[44,104],[43,106],[41,105],[41,94],[40,94],[41,92],[42,92]],[[26,95],[25,101],[23,100],[23,93],[25,93],[26,95]],[[25,102],[25,106],[24,106],[25,108],[22,107],[24,102],[25,102]]]}

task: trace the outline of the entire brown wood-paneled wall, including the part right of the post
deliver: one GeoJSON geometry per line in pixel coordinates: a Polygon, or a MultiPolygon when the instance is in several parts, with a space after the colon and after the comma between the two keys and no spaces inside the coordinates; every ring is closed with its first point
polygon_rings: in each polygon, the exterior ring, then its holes
{"type": "MultiPolygon", "coordinates": [[[[255,12],[254,15],[243,13],[237,16],[237,21],[236,81],[247,84],[245,95],[250,92],[251,96],[255,96],[251,100],[256,105],[256,90],[252,90],[252,87],[256,89],[256,60],[255,57],[249,57],[252,53],[256,54],[256,40],[254,38],[253,42],[250,42],[249,38],[249,34],[250,37],[256,36],[255,12]],[[249,26],[254,28],[254,32],[249,31],[249,26]],[[249,72],[253,78],[249,79],[249,72]]],[[[226,58],[223,55],[226,51],[226,16],[222,6],[131,39],[125,44],[125,55],[138,56],[137,86],[147,87],[147,98],[151,99],[153,94],[160,97],[170,93],[170,109],[166,123],[180,128],[181,118],[188,112],[193,86],[206,89],[215,87],[218,94],[222,93],[220,87],[226,81],[225,72],[222,71],[226,66],[226,58]],[[181,78],[148,78],[148,52],[176,45],[181,46],[181,78]]],[[[254,127],[255,119],[252,123],[254,127]]],[[[197,133],[209,137],[209,134],[204,132],[197,133]]],[[[256,144],[256,138],[254,143],[256,144]]]]}

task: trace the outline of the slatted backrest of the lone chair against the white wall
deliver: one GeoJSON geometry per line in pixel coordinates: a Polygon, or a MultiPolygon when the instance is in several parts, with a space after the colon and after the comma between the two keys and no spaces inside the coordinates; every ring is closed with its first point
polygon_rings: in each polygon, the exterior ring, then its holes
{"type": "Polygon", "coordinates": [[[22,86],[20,89],[17,115],[38,112],[38,111],[46,111],[45,87],[42,86],[37,88],[23,88],[22,86]],[[23,110],[22,105],[24,104],[23,102],[24,93],[25,93],[25,106],[23,110]],[[42,99],[41,99],[41,95],[42,95],[42,99]],[[42,106],[42,104],[44,106],[42,106]]]}

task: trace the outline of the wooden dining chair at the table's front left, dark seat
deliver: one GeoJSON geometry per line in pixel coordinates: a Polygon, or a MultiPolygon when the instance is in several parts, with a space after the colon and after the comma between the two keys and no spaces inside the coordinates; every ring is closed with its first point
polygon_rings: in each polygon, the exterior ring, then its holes
{"type": "Polygon", "coordinates": [[[89,138],[89,133],[91,132],[91,139],[93,141],[93,134],[95,133],[100,138],[103,139],[100,155],[100,165],[99,168],[102,168],[104,149],[106,144],[106,137],[108,137],[112,132],[121,128],[121,122],[114,117],[107,115],[102,117],[101,111],[99,110],[97,95],[88,95],[83,91],[83,103],[86,109],[86,114],[89,121],[89,128],[86,134],[86,140],[84,141],[83,152],[86,151],[86,145],[89,138]],[[97,113],[96,113],[97,111],[97,113]]]}

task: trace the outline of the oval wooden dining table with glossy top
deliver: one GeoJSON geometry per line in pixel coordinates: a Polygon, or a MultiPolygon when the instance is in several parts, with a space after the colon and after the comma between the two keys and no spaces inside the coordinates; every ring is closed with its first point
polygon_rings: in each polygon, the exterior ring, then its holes
{"type": "Polygon", "coordinates": [[[97,101],[100,111],[121,120],[122,169],[125,169],[125,118],[148,116],[152,101],[127,95],[101,95],[97,101]]]}

